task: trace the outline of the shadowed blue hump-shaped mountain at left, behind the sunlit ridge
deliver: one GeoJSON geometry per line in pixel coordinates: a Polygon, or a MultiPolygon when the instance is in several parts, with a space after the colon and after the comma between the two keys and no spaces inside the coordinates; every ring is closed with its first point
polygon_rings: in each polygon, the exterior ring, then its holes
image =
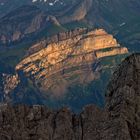
{"type": "Polygon", "coordinates": [[[0,43],[8,45],[27,39],[51,25],[60,26],[55,17],[47,15],[41,9],[31,5],[22,6],[1,18],[0,43]]]}

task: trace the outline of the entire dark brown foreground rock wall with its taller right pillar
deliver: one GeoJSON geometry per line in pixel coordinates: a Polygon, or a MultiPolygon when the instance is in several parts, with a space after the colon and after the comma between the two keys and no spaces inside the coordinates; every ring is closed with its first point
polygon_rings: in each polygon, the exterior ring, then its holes
{"type": "Polygon", "coordinates": [[[43,106],[0,106],[1,140],[139,140],[140,54],[116,70],[106,92],[106,106],[83,112],[43,106]]]}

